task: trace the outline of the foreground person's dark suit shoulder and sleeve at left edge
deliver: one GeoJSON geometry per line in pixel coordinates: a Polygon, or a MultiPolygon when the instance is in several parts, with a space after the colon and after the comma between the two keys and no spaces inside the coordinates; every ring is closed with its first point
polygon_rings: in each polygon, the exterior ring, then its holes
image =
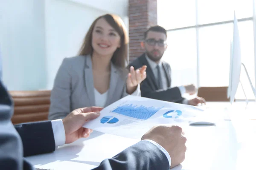
{"type": "Polygon", "coordinates": [[[55,150],[51,122],[17,125],[15,130],[12,114],[12,99],[0,80],[0,169],[32,170],[23,156],[55,150]]]}

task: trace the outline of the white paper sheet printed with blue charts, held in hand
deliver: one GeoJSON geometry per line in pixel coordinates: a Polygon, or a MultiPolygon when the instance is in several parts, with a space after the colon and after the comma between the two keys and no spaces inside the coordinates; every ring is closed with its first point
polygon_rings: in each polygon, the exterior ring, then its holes
{"type": "Polygon", "coordinates": [[[188,125],[189,121],[203,114],[203,110],[190,105],[165,102],[138,96],[126,96],[101,111],[100,116],[84,127],[141,139],[154,125],[188,125]]]}

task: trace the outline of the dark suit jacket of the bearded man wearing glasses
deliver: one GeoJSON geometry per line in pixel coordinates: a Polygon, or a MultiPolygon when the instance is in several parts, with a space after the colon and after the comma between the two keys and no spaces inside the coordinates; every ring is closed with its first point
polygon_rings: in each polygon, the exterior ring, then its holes
{"type": "Polygon", "coordinates": [[[171,88],[171,67],[167,62],[163,61],[162,63],[168,83],[167,90],[163,90],[158,87],[157,80],[154,77],[153,71],[148,64],[145,54],[142,54],[140,57],[131,62],[129,67],[133,66],[135,69],[137,69],[143,65],[147,66],[147,78],[140,84],[141,96],[168,102],[181,103],[184,98],[180,94],[180,89],[178,87],[171,88]]]}

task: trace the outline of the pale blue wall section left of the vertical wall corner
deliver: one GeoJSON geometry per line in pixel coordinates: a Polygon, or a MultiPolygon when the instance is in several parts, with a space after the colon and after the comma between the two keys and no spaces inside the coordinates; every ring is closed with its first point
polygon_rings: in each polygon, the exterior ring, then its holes
{"type": "Polygon", "coordinates": [[[43,1],[0,0],[0,48],[8,89],[46,86],[43,1]]]}

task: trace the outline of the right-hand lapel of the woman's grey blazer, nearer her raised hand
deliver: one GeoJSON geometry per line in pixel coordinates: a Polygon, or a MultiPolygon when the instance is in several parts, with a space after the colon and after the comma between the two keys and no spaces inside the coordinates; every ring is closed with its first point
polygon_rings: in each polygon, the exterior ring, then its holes
{"type": "Polygon", "coordinates": [[[105,102],[105,106],[108,106],[110,105],[110,103],[112,103],[111,99],[113,97],[113,94],[115,94],[115,89],[118,81],[119,81],[118,70],[111,62],[110,83],[109,83],[109,89],[108,89],[108,95],[107,95],[108,97],[105,102]]]}

